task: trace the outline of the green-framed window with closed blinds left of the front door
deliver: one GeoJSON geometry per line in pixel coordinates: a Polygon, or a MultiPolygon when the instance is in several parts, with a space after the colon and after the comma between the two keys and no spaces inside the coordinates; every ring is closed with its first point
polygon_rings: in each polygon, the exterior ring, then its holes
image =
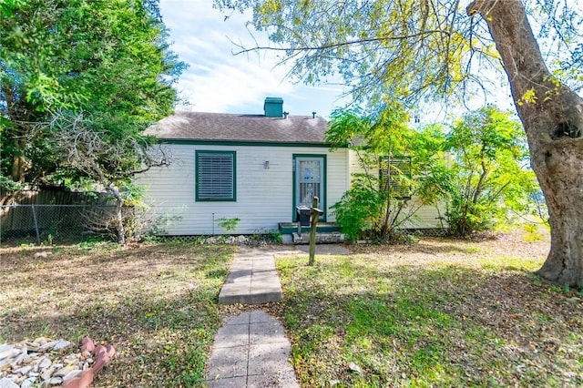
{"type": "Polygon", "coordinates": [[[197,200],[236,200],[235,152],[196,152],[197,200]]]}

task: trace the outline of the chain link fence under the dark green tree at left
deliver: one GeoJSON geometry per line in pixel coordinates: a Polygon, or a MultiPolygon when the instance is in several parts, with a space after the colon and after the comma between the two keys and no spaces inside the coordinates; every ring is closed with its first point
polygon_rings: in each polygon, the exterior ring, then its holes
{"type": "MultiPolygon", "coordinates": [[[[132,209],[124,208],[128,214],[132,209]]],[[[96,236],[115,238],[115,205],[3,205],[0,244],[73,244],[96,236]]]]}

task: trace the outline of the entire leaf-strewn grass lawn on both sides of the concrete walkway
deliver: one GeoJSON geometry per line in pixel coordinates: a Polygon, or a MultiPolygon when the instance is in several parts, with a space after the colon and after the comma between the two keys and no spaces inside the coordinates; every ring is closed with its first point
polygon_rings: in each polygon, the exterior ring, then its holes
{"type": "MultiPolygon", "coordinates": [[[[348,246],[277,260],[302,386],[583,386],[583,293],[533,274],[548,236],[348,246]],[[531,241],[529,241],[531,240],[531,241]],[[351,371],[357,365],[361,373],[351,371]]],[[[0,343],[89,335],[118,355],[99,387],[200,386],[236,248],[0,249],[0,343]]]]}

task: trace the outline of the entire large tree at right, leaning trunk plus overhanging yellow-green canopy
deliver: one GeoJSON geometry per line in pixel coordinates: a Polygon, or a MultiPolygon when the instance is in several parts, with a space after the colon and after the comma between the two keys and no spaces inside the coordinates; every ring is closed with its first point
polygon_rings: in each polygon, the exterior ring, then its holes
{"type": "Polygon", "coordinates": [[[551,249],[538,273],[583,287],[583,99],[577,1],[215,0],[252,8],[292,74],[306,82],[340,75],[357,100],[464,102],[504,70],[545,194],[551,249]],[[541,51],[541,47],[543,50],[541,51]],[[500,66],[501,65],[501,66],[500,66]],[[485,71],[486,70],[486,71],[485,71]],[[455,92],[459,92],[457,95],[455,92]],[[451,101],[451,99],[450,99],[451,101]]]}

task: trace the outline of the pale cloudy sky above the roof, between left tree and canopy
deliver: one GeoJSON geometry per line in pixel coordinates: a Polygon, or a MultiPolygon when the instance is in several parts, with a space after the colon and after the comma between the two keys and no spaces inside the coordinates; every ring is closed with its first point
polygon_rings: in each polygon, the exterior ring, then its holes
{"type": "MultiPolygon", "coordinates": [[[[212,0],[160,0],[171,47],[189,64],[179,78],[179,95],[189,110],[217,113],[263,113],[265,97],[283,98],[283,109],[292,115],[329,117],[340,107],[342,88],[305,87],[286,80],[286,68],[274,67],[271,52],[233,56],[232,41],[251,46],[245,28],[249,17],[235,13],[225,21],[212,0]]],[[[265,36],[255,38],[267,41],[265,36]]],[[[179,107],[183,109],[183,107],[179,107]]]]}

